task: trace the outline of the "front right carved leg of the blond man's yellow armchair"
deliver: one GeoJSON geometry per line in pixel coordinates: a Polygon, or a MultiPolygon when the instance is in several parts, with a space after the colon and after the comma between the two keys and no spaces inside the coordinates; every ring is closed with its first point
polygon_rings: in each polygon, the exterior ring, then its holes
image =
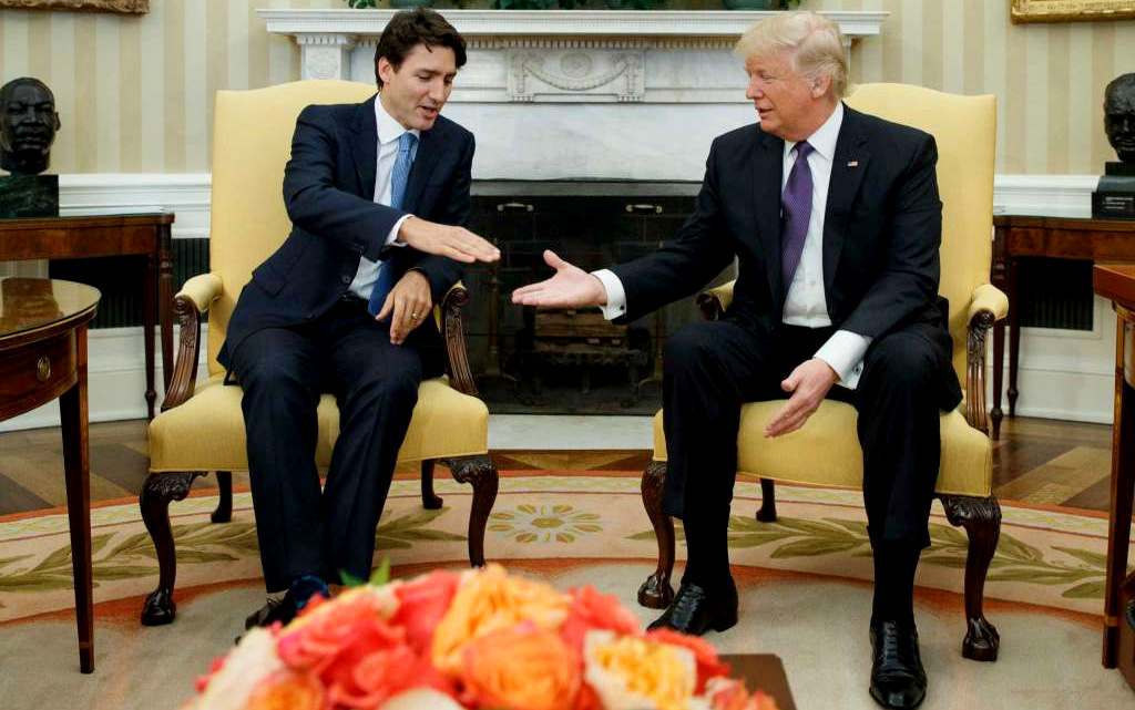
{"type": "Polygon", "coordinates": [[[997,498],[939,496],[951,525],[962,526],[969,535],[966,557],[966,639],[961,656],[975,661],[995,661],[1001,636],[985,618],[982,601],[990,561],[1001,536],[1001,505],[997,498]]]}

